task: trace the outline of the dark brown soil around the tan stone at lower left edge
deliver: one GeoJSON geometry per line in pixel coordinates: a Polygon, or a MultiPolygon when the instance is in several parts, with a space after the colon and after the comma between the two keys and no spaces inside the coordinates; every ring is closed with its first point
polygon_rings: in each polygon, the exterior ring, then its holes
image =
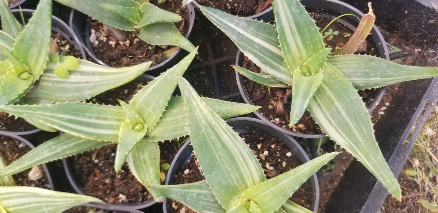
{"type": "MultiPolygon", "coordinates": [[[[0,144],[0,153],[2,153],[7,165],[13,163],[31,150],[31,148],[24,143],[4,136],[0,136],[0,144]]],[[[31,180],[28,177],[32,169],[33,168],[30,168],[12,175],[17,185],[50,189],[49,181],[43,167],[41,165],[35,167],[35,169],[38,169],[42,173],[42,178],[37,180],[31,180]]]]}

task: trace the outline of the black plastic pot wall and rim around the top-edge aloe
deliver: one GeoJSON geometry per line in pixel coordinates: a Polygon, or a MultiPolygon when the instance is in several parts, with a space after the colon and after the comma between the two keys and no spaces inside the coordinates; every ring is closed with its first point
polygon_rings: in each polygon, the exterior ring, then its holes
{"type": "MultiPolygon", "coordinates": [[[[188,39],[190,34],[191,34],[192,28],[193,28],[194,16],[195,16],[194,9],[193,9],[193,6],[191,4],[187,5],[187,11],[189,14],[189,23],[188,23],[189,27],[188,27],[187,34],[185,35],[185,37],[188,39]]],[[[92,59],[96,63],[101,64],[103,66],[109,66],[108,64],[105,64],[102,60],[100,60],[96,56],[96,54],[92,48],[92,44],[90,43],[90,35],[91,35],[91,30],[90,30],[91,22],[90,21],[91,21],[91,17],[89,17],[89,16],[87,16],[79,11],[75,11],[74,9],[71,10],[69,25],[73,29],[75,34],[78,35],[78,37],[81,39],[81,44],[82,44],[82,46],[84,46],[85,51],[88,53],[88,55],[90,57],[92,57],[92,59]]],[[[181,58],[183,58],[186,54],[187,54],[187,51],[182,50],[182,48],[178,48],[178,50],[175,51],[175,53],[173,53],[173,55],[171,55],[169,58],[167,58],[163,62],[156,64],[152,67],[149,67],[147,72],[158,74],[162,71],[166,71],[167,69],[169,69],[173,65],[177,64],[177,62],[181,58]]]]}

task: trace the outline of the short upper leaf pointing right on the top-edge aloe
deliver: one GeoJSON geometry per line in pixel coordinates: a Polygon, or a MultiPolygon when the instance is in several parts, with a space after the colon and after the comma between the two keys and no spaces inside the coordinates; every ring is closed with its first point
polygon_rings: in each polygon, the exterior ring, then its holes
{"type": "Polygon", "coordinates": [[[140,23],[135,25],[135,28],[142,28],[146,25],[152,25],[160,22],[178,22],[181,21],[181,17],[178,14],[160,9],[153,4],[142,4],[141,11],[143,11],[143,18],[140,23]]]}

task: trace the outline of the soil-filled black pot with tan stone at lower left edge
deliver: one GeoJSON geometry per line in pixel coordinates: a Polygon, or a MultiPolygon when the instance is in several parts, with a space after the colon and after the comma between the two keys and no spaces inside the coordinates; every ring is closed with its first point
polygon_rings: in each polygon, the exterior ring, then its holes
{"type": "MultiPolygon", "coordinates": [[[[33,146],[25,138],[10,132],[0,132],[0,139],[2,139],[0,141],[0,150],[2,151],[2,155],[5,160],[7,160],[8,164],[20,158],[31,149],[35,148],[35,146],[33,146]],[[24,151],[21,151],[23,149],[24,151]]],[[[49,170],[47,169],[45,163],[32,167],[28,170],[21,171],[12,176],[14,177],[17,185],[46,188],[50,190],[54,189],[52,178],[50,177],[49,170]],[[22,184],[20,184],[20,182],[22,184]]]]}

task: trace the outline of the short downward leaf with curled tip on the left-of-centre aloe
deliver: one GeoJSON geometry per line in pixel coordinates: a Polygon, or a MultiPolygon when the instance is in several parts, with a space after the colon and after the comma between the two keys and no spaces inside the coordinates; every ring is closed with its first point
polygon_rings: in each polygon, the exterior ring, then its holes
{"type": "Polygon", "coordinates": [[[141,140],[128,155],[129,170],[148,189],[157,202],[163,200],[149,186],[161,185],[160,180],[160,149],[157,142],[141,140]]]}

